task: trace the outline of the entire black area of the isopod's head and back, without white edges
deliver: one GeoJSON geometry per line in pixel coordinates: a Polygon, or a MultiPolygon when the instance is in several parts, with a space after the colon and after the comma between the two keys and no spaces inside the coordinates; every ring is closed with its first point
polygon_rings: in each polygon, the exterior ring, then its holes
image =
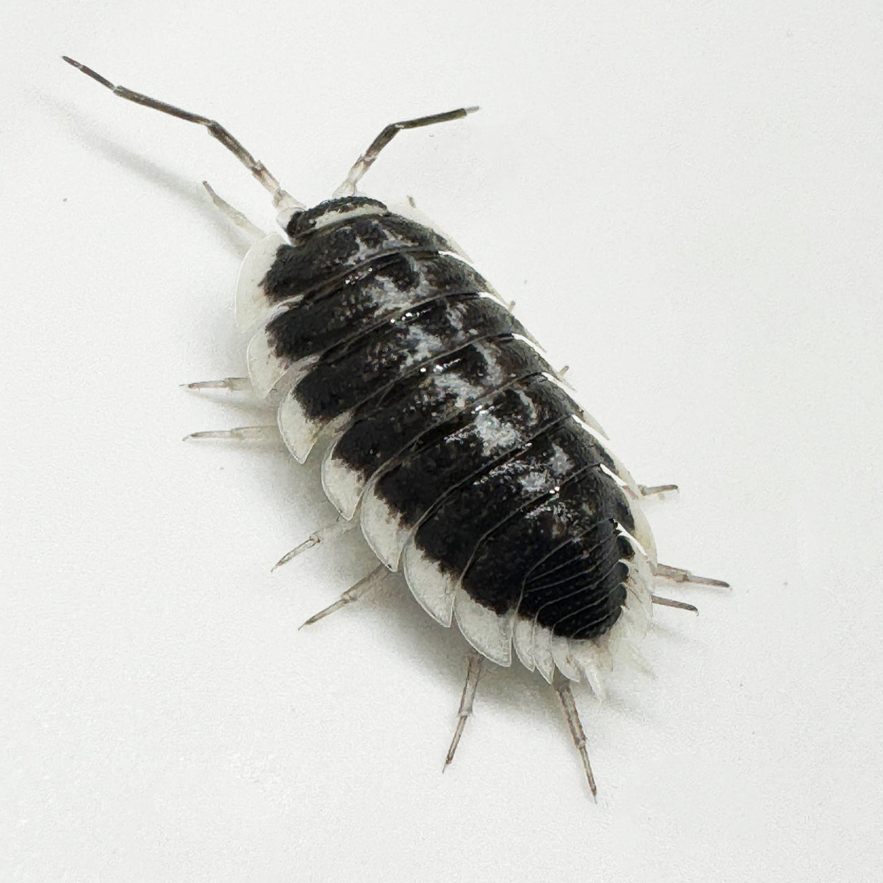
{"type": "Polygon", "coordinates": [[[578,406],[540,372],[525,330],[439,234],[376,200],[292,216],[261,285],[276,358],[306,374],[306,419],[346,414],[332,457],[374,493],[464,591],[557,635],[608,630],[634,555],[628,501],[578,406]],[[525,335],[526,336],[526,335],[525,335]],[[494,351],[494,358],[488,356],[494,351]]]}

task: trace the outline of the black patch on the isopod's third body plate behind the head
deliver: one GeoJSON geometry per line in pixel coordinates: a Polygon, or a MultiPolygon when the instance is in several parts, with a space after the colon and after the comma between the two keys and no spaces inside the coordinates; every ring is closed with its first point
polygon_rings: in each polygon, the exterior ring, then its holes
{"type": "Polygon", "coordinates": [[[421,366],[465,343],[520,334],[521,324],[493,298],[439,298],[328,351],[292,389],[308,418],[328,422],[421,366]]]}

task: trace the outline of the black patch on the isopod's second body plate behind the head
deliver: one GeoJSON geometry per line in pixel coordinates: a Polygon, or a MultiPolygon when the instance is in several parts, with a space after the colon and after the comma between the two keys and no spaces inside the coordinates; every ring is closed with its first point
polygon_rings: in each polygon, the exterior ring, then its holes
{"type": "Polygon", "coordinates": [[[427,300],[487,291],[452,255],[396,253],[360,268],[321,297],[293,304],[268,322],[269,349],[289,364],[350,341],[427,300]]]}

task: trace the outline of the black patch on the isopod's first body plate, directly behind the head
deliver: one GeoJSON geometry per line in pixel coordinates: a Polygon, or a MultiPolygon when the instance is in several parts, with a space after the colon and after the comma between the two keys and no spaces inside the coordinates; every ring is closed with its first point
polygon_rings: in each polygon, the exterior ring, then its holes
{"type": "Polygon", "coordinates": [[[356,217],[315,230],[298,245],[280,245],[260,285],[268,302],[278,304],[391,253],[451,250],[434,230],[401,215],[356,217]]]}

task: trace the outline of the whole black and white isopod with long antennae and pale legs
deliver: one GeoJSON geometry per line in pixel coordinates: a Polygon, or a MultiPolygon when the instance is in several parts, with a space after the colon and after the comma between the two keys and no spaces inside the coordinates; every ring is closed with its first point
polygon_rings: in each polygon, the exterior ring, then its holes
{"type": "Polygon", "coordinates": [[[657,561],[641,501],[674,486],[632,479],[457,246],[358,193],[396,132],[474,108],[387,126],[334,196],[307,208],[214,120],[64,60],[122,98],[206,126],[272,194],[283,233],[265,236],[212,192],[254,235],[236,304],[252,334],[248,378],[191,386],[270,398],[298,463],[325,446],[322,487],[341,517],[304,546],[358,526],[381,564],[308,622],[400,571],[426,613],[456,620],[475,650],[446,762],[483,661],[517,657],[558,691],[594,794],[570,682],[602,695],[605,671],[643,636],[653,603],[695,609],[660,598],[658,582],[727,584],[657,561]]]}

